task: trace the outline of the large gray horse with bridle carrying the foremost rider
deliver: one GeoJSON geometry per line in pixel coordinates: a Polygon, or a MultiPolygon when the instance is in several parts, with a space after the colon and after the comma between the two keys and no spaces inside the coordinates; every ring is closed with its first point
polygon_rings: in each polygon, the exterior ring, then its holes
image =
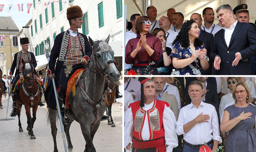
{"type": "MultiPolygon", "coordinates": [[[[86,141],[84,152],[96,152],[92,141],[99,128],[101,117],[106,109],[106,104],[103,98],[105,77],[108,77],[113,83],[117,83],[119,81],[120,73],[116,68],[117,63],[114,59],[114,51],[108,45],[109,37],[105,42],[94,42],[89,37],[89,42],[93,47],[89,69],[83,73],[78,85],[76,85],[76,95],[73,101],[69,104],[69,108],[65,110],[65,113],[67,113],[66,116],[73,116],[68,118],[69,122],[72,123],[75,119],[80,124],[83,137],[86,141]]],[[[57,115],[57,110],[49,109],[48,118],[51,123],[54,152],[58,152],[56,143],[57,115]]],[[[69,152],[72,152],[73,149],[69,135],[71,123],[64,125],[69,152]]]]}

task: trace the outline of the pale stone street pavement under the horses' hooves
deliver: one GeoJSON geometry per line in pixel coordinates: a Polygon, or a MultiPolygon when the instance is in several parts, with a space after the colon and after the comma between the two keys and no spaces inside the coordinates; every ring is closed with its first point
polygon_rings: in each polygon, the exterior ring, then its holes
{"type": "MultiPolygon", "coordinates": [[[[25,108],[21,110],[21,124],[24,132],[18,131],[18,116],[10,117],[12,100],[9,101],[9,109],[6,119],[7,100],[2,98],[3,109],[0,109],[0,152],[53,152],[54,144],[50,124],[47,124],[46,105],[38,107],[37,119],[34,124],[34,135],[36,139],[31,140],[27,127],[27,116],[25,108]]],[[[96,132],[93,144],[97,152],[122,152],[122,109],[120,103],[113,103],[112,116],[116,127],[111,127],[107,121],[101,121],[96,132]]],[[[31,108],[32,110],[32,108],[31,108]]],[[[64,152],[62,132],[60,123],[57,125],[57,144],[59,152],[64,152]]],[[[73,145],[73,152],[83,152],[85,140],[82,136],[79,123],[74,121],[70,127],[70,137],[73,145]]]]}

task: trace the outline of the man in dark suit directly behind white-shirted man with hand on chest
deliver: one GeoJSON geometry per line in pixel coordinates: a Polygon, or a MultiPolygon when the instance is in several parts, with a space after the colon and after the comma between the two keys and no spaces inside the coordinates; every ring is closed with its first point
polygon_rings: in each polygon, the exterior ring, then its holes
{"type": "MultiPolygon", "coordinates": [[[[207,78],[208,77],[196,77],[198,81],[202,82],[206,86],[207,93],[205,95],[205,99],[215,103],[217,105],[217,108],[219,108],[219,98],[218,98],[217,88],[208,84],[206,81],[207,78]]],[[[189,103],[191,102],[189,92],[186,93],[186,99],[185,99],[185,103],[187,104],[188,102],[189,103]]]]}

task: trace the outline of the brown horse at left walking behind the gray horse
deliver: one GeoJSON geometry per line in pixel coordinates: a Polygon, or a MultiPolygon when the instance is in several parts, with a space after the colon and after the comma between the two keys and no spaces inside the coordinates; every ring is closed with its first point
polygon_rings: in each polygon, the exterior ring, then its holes
{"type": "MultiPolygon", "coordinates": [[[[37,84],[37,80],[34,76],[34,68],[32,65],[33,60],[31,59],[30,62],[24,62],[22,59],[22,73],[23,76],[23,83],[19,91],[17,91],[17,108],[13,108],[10,116],[18,115],[19,118],[19,132],[22,132],[23,129],[20,123],[20,111],[22,104],[25,106],[26,115],[27,115],[27,131],[30,135],[30,139],[36,139],[33,133],[33,126],[36,121],[36,111],[38,107],[38,102],[40,101],[40,88],[37,84]],[[30,108],[33,111],[33,118],[31,117],[30,108]]],[[[12,87],[14,88],[14,86],[12,87]]]]}

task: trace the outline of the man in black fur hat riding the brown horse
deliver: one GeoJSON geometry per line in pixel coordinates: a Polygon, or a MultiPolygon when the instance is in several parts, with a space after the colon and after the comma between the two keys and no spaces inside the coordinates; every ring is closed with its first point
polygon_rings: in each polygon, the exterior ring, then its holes
{"type": "MultiPolygon", "coordinates": [[[[31,59],[33,59],[33,67],[34,67],[34,72],[36,73],[35,71],[35,68],[37,66],[37,63],[36,63],[36,58],[35,58],[35,55],[33,52],[30,52],[28,51],[28,44],[29,44],[29,41],[28,41],[28,38],[20,38],[20,44],[21,44],[21,48],[22,50],[15,53],[14,55],[14,59],[13,59],[13,62],[11,64],[11,69],[10,69],[10,75],[9,77],[11,78],[13,73],[14,73],[14,70],[16,68],[16,72],[15,72],[15,78],[12,79],[11,81],[11,84],[12,84],[12,87],[10,87],[11,89],[11,96],[12,96],[12,107],[13,108],[17,108],[17,102],[16,102],[16,99],[17,99],[17,93],[16,92],[13,92],[13,89],[17,83],[17,81],[23,77],[23,73],[22,73],[22,66],[23,66],[23,63],[22,63],[22,59],[26,62],[26,61],[30,61],[31,59]]],[[[39,79],[38,76],[34,75],[36,77],[37,80],[39,80],[39,82],[41,83],[41,86],[43,85],[43,81],[39,79]]],[[[41,98],[42,98],[42,93],[41,93],[41,98]]],[[[42,103],[42,101],[40,100],[38,102],[38,105],[40,106],[44,106],[45,104],[42,103]]]]}

